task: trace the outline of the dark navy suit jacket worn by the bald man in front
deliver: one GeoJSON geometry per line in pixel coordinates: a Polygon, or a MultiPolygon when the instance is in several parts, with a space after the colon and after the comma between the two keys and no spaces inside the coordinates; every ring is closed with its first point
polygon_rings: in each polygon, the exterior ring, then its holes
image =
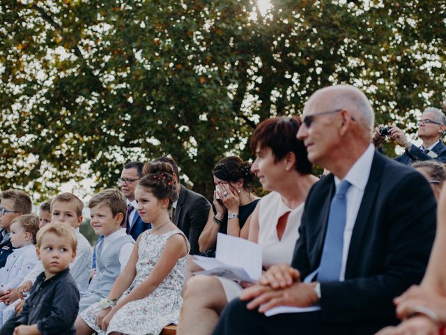
{"type": "MultiPolygon", "coordinates": [[[[321,261],[334,177],[310,191],[292,265],[305,278],[321,261]]],[[[321,283],[321,320],[345,334],[374,334],[397,322],[392,298],[419,283],[436,232],[426,179],[376,152],[348,250],[345,281],[321,283]],[[343,328],[344,327],[344,328],[343,328]]]]}

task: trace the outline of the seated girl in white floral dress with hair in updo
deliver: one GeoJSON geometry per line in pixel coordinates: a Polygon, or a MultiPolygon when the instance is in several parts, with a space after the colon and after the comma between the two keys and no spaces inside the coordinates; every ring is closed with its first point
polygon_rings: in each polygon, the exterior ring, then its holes
{"type": "Polygon", "coordinates": [[[176,200],[173,171],[151,163],[139,180],[137,211],[152,229],[139,235],[132,255],[107,299],[77,317],[77,334],[160,334],[178,320],[189,243],[169,219],[176,200]]]}

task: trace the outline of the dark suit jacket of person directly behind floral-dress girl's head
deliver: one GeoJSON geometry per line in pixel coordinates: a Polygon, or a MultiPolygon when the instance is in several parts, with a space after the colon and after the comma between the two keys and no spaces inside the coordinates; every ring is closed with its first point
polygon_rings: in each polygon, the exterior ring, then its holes
{"type": "Polygon", "coordinates": [[[175,209],[175,224],[182,230],[190,243],[191,255],[200,252],[198,239],[208,221],[210,203],[203,195],[181,185],[175,209]]]}

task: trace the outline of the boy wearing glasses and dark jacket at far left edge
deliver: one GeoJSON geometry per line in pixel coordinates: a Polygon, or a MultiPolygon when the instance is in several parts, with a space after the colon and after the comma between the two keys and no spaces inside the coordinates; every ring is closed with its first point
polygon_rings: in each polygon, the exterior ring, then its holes
{"type": "Polygon", "coordinates": [[[11,222],[17,216],[31,214],[32,207],[31,198],[24,191],[10,189],[0,193],[0,269],[13,252],[9,238],[11,222]]]}

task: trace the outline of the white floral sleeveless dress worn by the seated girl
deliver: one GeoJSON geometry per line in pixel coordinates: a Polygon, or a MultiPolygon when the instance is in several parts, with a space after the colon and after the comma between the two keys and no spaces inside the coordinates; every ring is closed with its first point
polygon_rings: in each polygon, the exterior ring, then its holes
{"type": "MultiPolygon", "coordinates": [[[[160,235],[152,235],[150,231],[146,230],[142,233],[136,265],[137,275],[119,300],[123,299],[132,288],[148,277],[160,259],[164,245],[169,237],[174,234],[182,234],[184,236],[183,232],[177,229],[160,235]]],[[[186,238],[185,241],[187,248],[190,249],[186,238]]],[[[86,308],[80,314],[81,318],[98,334],[109,334],[111,332],[130,335],[160,334],[165,326],[170,325],[172,322],[177,322],[180,315],[180,307],[183,302],[181,291],[183,290],[186,258],[187,255],[176,262],[176,265],[164,278],[164,281],[148,297],[131,301],[120,308],[113,316],[107,332],[102,332],[95,325],[96,314],[100,311],[97,303],[86,308]]]]}

